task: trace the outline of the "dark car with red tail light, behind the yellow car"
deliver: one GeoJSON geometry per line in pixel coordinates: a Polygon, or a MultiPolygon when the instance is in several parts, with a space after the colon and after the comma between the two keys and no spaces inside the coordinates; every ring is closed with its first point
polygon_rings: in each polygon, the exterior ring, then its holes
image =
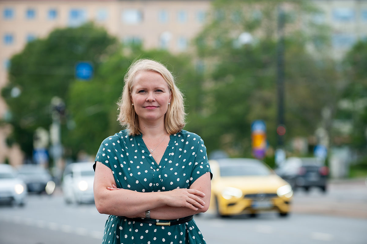
{"type": "Polygon", "coordinates": [[[319,187],[326,192],[329,169],[314,157],[290,157],[275,172],[290,183],[292,189],[319,187]]]}

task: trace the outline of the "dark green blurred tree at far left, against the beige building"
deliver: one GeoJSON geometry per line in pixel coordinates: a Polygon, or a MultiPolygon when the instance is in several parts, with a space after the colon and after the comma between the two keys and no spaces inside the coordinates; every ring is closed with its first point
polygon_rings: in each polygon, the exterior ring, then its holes
{"type": "MultiPolygon", "coordinates": [[[[3,88],[2,96],[11,112],[8,118],[13,127],[11,137],[28,157],[32,156],[34,130],[50,127],[51,98],[62,98],[68,108],[70,85],[76,83],[76,63],[89,61],[98,71],[101,62],[116,52],[117,47],[116,38],[87,23],[78,28],[56,29],[45,39],[28,43],[11,58],[9,83],[3,88]]],[[[70,127],[70,121],[65,123],[67,111],[63,118],[64,126],[70,127]]],[[[64,145],[71,143],[68,137],[62,139],[64,145]]]]}

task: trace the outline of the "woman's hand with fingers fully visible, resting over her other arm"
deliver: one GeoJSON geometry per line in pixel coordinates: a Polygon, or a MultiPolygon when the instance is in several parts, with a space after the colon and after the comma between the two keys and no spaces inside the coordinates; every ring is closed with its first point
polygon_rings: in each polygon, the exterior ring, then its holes
{"type": "Polygon", "coordinates": [[[200,198],[205,194],[196,189],[174,189],[164,194],[165,203],[172,207],[186,207],[192,210],[203,208],[205,202],[200,198]],[[200,196],[200,197],[199,197],[200,196]]]}

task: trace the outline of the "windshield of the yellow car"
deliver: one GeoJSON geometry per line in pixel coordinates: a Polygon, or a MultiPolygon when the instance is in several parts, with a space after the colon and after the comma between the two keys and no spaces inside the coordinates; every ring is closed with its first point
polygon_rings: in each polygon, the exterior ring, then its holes
{"type": "Polygon", "coordinates": [[[272,174],[260,161],[223,162],[219,165],[221,176],[265,176],[272,174]]]}

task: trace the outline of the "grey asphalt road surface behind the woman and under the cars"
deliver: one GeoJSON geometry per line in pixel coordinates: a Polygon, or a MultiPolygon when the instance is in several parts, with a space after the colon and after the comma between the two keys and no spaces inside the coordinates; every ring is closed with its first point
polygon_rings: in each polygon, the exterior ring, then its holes
{"type": "MultiPolygon", "coordinates": [[[[288,218],[207,212],[195,221],[208,244],[366,244],[366,211],[364,182],[335,182],[327,194],[295,192],[288,218]]],[[[0,206],[0,244],[100,244],[106,218],[93,204],[66,205],[60,193],[29,196],[23,208],[0,206]]]]}

